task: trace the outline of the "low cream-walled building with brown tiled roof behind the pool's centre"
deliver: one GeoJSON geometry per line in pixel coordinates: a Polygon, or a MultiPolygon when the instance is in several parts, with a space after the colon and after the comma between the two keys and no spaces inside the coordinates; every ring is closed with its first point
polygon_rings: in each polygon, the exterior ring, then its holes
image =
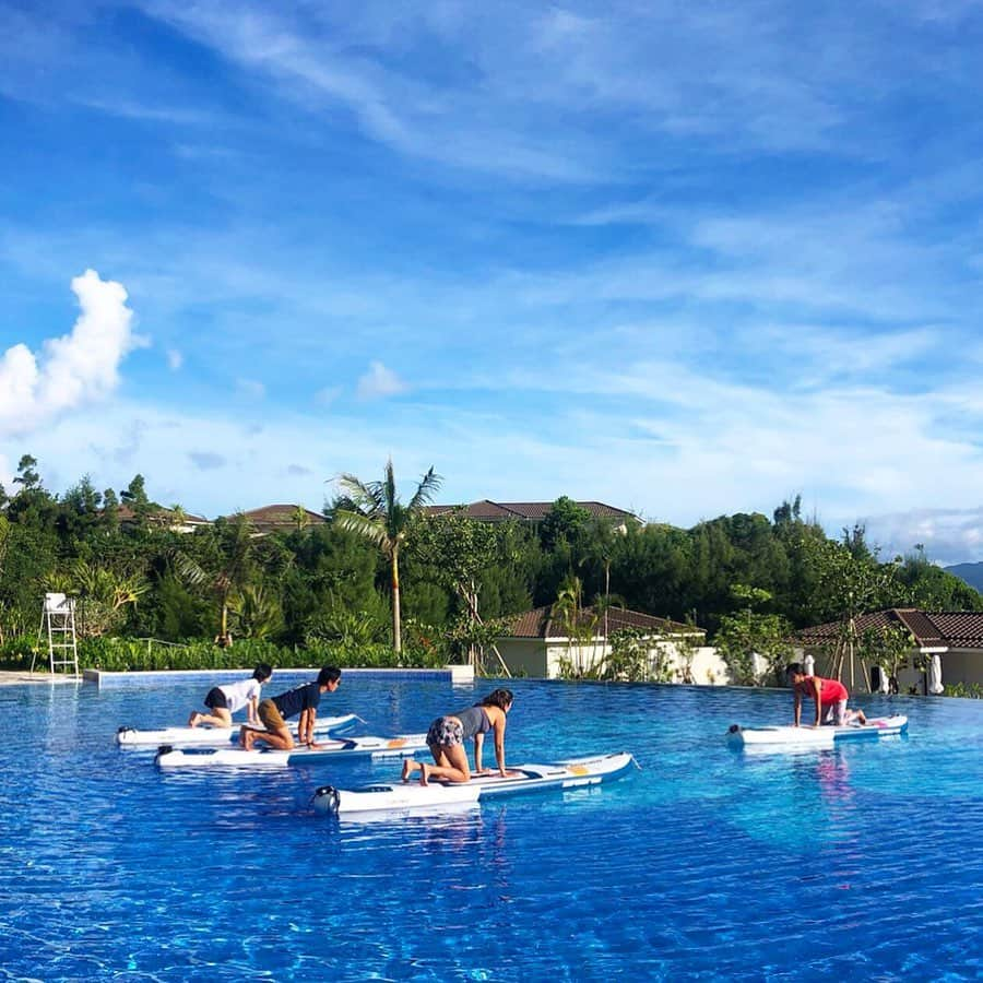
{"type": "Polygon", "coordinates": [[[514,618],[511,632],[499,639],[497,648],[516,676],[555,679],[564,675],[565,667],[584,675],[608,659],[611,636],[625,628],[639,630],[648,643],[650,678],[667,676],[666,682],[703,685],[729,682],[726,665],[715,649],[704,644],[701,628],[640,611],[612,608],[604,615],[587,607],[580,612],[578,630],[571,632],[553,608],[536,607],[514,618]]]}

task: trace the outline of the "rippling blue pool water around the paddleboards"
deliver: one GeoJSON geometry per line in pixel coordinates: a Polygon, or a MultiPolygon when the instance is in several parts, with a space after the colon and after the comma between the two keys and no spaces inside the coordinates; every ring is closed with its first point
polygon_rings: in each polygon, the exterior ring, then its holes
{"type": "MultiPolygon", "coordinates": [[[[322,713],[364,733],[494,688],[348,682],[322,713]]],[[[399,763],[162,774],[114,733],[183,722],[206,683],[0,689],[0,979],[983,976],[980,701],[862,698],[910,735],[753,756],[727,725],[787,720],[787,694],[509,685],[510,762],[627,749],[641,770],[340,824],[313,789],[399,763]]]]}

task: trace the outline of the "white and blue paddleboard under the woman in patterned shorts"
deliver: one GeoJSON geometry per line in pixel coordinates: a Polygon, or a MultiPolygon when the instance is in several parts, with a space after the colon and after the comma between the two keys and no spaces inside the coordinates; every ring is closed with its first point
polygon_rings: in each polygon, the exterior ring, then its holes
{"type": "Polygon", "coordinates": [[[427,785],[418,781],[393,782],[352,790],[325,785],[315,792],[313,807],[317,813],[350,817],[411,809],[453,810],[500,795],[596,785],[619,779],[637,767],[631,755],[621,753],[570,758],[552,765],[519,765],[509,770],[507,778],[495,772],[475,775],[470,782],[431,781],[427,785]]]}

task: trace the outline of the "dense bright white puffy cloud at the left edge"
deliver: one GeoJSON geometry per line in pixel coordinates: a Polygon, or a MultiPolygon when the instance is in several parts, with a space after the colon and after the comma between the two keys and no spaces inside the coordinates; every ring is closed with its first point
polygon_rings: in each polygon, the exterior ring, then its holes
{"type": "Polygon", "coordinates": [[[16,344],[0,358],[0,435],[26,434],[105,400],[119,383],[123,357],[143,344],[121,284],[86,270],[72,291],[82,313],[71,334],[46,341],[40,357],[16,344]]]}

